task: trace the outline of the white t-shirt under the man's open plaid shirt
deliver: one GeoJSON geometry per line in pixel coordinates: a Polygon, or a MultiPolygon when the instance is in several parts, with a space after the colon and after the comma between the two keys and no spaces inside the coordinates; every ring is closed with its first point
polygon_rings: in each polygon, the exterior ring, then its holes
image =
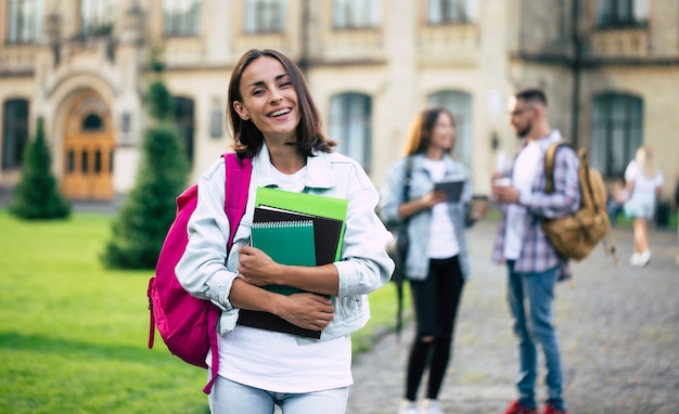
{"type": "MultiPolygon", "coordinates": [[[[542,152],[537,141],[529,141],[516,156],[512,171],[512,185],[522,194],[530,194],[541,156],[542,152]]],[[[526,207],[518,204],[511,204],[507,209],[505,259],[515,260],[521,256],[526,214],[526,207]]]]}

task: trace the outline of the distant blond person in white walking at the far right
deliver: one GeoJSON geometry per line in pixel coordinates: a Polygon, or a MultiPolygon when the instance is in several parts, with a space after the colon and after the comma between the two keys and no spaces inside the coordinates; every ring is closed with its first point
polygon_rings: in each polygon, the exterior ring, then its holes
{"type": "Polygon", "coordinates": [[[635,230],[635,253],[629,262],[644,267],[651,260],[649,220],[655,214],[655,203],[663,191],[663,173],[655,165],[651,148],[640,146],[637,150],[635,159],[625,169],[625,182],[629,193],[625,215],[632,219],[635,230]]]}

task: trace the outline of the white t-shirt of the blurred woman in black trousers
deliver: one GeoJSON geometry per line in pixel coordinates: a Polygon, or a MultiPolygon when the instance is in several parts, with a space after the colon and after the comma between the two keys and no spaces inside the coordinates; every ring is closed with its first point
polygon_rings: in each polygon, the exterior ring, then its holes
{"type": "MultiPolygon", "coordinates": [[[[443,159],[424,158],[424,168],[432,181],[443,181],[446,176],[446,164],[443,159]]],[[[452,219],[448,212],[448,203],[438,203],[432,208],[430,230],[430,248],[427,256],[432,259],[447,259],[460,253],[460,245],[454,235],[452,219]]]]}

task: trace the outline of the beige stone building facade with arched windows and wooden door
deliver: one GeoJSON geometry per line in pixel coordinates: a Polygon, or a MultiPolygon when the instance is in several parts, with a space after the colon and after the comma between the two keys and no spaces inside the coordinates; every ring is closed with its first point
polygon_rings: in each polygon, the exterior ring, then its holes
{"type": "Polygon", "coordinates": [[[44,119],[72,199],[134,181],[152,48],[187,140],[192,180],[230,145],[229,76],[251,48],[298,62],[338,151],[380,184],[410,120],[441,104],[477,193],[520,144],[507,101],[540,86],[550,120],[612,179],[636,148],[679,174],[679,0],[0,0],[0,186],[44,119]]]}

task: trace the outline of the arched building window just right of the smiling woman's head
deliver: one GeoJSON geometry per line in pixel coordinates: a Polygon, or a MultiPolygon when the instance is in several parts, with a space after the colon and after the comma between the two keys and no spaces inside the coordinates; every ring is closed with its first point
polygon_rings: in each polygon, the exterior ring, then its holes
{"type": "Polygon", "coordinates": [[[330,100],[330,138],[337,151],[357,160],[370,172],[372,101],[361,93],[342,93],[330,100]]]}

